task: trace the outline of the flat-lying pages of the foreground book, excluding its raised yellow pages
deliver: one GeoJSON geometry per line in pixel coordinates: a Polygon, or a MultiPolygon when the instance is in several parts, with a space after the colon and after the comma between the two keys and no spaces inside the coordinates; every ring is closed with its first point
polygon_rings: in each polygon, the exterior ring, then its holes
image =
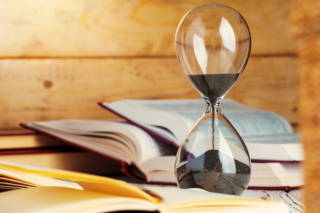
{"type": "Polygon", "coordinates": [[[37,212],[233,212],[233,213],[289,213],[283,202],[241,198],[231,195],[204,192],[198,189],[146,187],[162,197],[162,202],[119,197],[112,194],[73,188],[43,186],[0,193],[2,211],[10,213],[37,212]],[[12,202],[17,198],[19,205],[12,202]]]}

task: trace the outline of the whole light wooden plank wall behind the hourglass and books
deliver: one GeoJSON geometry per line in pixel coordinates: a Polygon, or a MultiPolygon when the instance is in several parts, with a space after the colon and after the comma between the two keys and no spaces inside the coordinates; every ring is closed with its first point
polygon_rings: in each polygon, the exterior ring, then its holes
{"type": "Polygon", "coordinates": [[[299,126],[289,0],[0,0],[0,128],[114,117],[99,101],[200,97],[180,69],[174,35],[202,4],[237,9],[252,34],[227,97],[299,126]]]}

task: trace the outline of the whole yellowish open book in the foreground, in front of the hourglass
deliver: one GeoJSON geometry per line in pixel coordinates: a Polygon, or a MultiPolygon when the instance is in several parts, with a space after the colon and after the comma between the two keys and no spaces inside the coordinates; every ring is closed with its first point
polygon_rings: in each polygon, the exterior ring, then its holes
{"type": "Polygon", "coordinates": [[[47,182],[46,185],[39,183],[40,186],[0,193],[3,212],[289,212],[288,206],[278,201],[210,193],[199,189],[138,187],[101,176],[26,167],[5,161],[0,161],[0,174],[12,174],[7,177],[11,182],[37,184],[34,181],[37,178],[38,182],[47,182]],[[66,178],[68,181],[63,180],[66,178]],[[66,182],[64,186],[61,186],[62,181],[66,182]]]}

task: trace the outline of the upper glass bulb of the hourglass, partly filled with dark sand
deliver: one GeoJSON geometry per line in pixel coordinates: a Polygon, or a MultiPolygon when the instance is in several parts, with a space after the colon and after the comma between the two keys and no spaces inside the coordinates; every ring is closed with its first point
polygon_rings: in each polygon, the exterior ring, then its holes
{"type": "Polygon", "coordinates": [[[175,48],[182,70],[211,104],[220,101],[241,75],[250,53],[249,28],[235,9],[203,5],[180,21],[175,48]]]}

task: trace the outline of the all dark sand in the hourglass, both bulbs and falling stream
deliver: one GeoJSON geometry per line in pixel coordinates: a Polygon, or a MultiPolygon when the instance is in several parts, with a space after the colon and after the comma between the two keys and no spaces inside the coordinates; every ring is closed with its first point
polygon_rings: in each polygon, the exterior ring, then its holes
{"type": "MultiPolygon", "coordinates": [[[[195,88],[201,91],[202,95],[212,104],[224,96],[238,77],[239,74],[188,75],[195,88]]],[[[212,116],[212,135],[215,130],[214,119],[215,116],[212,116]]],[[[250,179],[250,166],[215,150],[214,140],[215,138],[212,136],[212,149],[177,168],[179,187],[199,187],[210,192],[242,194],[250,179]],[[230,162],[236,168],[233,173],[223,171],[222,164],[230,162]]]]}

